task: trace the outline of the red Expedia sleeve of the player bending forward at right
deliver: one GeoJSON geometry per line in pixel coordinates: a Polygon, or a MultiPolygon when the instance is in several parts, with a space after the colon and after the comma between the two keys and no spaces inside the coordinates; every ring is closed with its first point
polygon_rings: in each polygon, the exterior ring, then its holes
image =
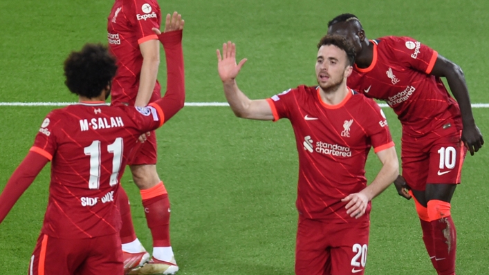
{"type": "Polygon", "coordinates": [[[395,37],[393,42],[392,49],[395,50],[399,60],[407,62],[410,67],[423,73],[432,72],[438,57],[436,50],[410,37],[395,37]]]}

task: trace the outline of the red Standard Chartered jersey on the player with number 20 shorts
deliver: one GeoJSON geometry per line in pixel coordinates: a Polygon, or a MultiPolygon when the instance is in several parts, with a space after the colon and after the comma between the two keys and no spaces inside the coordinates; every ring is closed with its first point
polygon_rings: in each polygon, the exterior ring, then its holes
{"type": "MultiPolygon", "coordinates": [[[[299,153],[297,209],[306,218],[356,222],[343,198],[367,186],[365,162],[394,146],[385,115],[372,99],[350,90],[338,105],[324,104],[318,87],[299,86],[267,99],[275,120],[286,117],[299,153]]],[[[368,219],[370,203],[366,215],[368,219]]]]}

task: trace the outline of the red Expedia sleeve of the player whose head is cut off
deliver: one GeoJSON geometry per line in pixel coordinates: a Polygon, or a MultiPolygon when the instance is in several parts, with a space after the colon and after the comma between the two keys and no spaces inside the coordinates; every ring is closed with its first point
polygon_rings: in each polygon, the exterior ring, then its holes
{"type": "Polygon", "coordinates": [[[158,39],[158,36],[151,30],[160,28],[161,12],[160,6],[156,1],[133,0],[133,13],[129,15],[133,23],[134,32],[138,39],[138,44],[142,44],[151,39],[158,39]]]}

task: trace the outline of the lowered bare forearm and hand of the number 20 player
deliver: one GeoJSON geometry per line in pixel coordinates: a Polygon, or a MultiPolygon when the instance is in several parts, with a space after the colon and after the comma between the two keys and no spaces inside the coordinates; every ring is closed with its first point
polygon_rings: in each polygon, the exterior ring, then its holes
{"type": "Polygon", "coordinates": [[[394,182],[398,176],[399,161],[394,146],[377,152],[377,156],[382,162],[382,169],[378,172],[375,180],[362,191],[350,194],[342,199],[342,202],[348,202],[346,206],[347,214],[350,214],[351,217],[360,218],[363,216],[369,201],[389,187],[389,184],[394,182]]]}

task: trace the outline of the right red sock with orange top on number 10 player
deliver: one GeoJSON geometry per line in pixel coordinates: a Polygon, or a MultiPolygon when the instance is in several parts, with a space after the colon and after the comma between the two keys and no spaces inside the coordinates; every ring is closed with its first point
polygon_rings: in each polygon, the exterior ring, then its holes
{"type": "Polygon", "coordinates": [[[428,202],[428,215],[430,215],[433,227],[436,272],[439,275],[454,275],[456,229],[450,215],[450,203],[430,200],[428,202]]]}

